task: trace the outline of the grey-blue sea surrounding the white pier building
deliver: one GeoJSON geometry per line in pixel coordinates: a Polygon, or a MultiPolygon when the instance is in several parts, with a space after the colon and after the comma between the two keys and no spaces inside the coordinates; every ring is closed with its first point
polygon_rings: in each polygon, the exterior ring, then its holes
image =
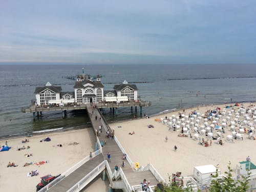
{"type": "MultiPolygon", "coordinates": [[[[250,102],[256,100],[256,65],[121,65],[72,63],[1,63],[0,64],[0,139],[91,127],[86,110],[43,112],[33,120],[23,107],[35,100],[35,88],[50,82],[62,91],[74,91],[75,80],[66,76],[101,74],[105,90],[113,90],[124,80],[136,84],[138,95],[152,105],[143,108],[149,116],[179,108],[205,104],[250,102]]],[[[111,122],[140,117],[140,110],[102,111],[111,122]]]]}

